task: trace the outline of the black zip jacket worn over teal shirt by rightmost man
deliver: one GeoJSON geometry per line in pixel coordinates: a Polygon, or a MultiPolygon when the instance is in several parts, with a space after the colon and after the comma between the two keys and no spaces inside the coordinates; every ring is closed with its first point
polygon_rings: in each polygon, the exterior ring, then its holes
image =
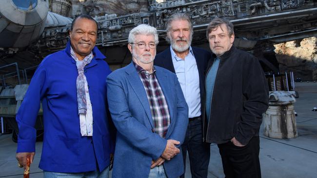
{"type": "MultiPolygon", "coordinates": [[[[265,76],[255,56],[234,46],[219,58],[208,125],[203,109],[204,139],[224,143],[236,137],[247,144],[258,136],[262,113],[268,108],[265,76]]],[[[213,62],[209,62],[206,74],[213,62]]]]}

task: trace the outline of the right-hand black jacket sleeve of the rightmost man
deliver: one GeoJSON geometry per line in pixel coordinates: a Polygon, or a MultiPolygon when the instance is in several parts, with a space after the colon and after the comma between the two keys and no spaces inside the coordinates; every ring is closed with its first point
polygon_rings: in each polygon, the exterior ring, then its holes
{"type": "Polygon", "coordinates": [[[252,57],[243,65],[243,112],[235,137],[241,144],[247,144],[258,133],[262,113],[268,108],[269,93],[258,59],[252,57]]]}

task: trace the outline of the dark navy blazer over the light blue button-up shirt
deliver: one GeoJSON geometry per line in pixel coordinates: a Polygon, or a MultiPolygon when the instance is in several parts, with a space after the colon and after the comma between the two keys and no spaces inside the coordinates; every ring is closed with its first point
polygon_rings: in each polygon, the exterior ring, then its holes
{"type": "MultiPolygon", "coordinates": [[[[199,89],[200,89],[200,102],[201,102],[201,113],[202,109],[205,106],[205,72],[207,69],[207,62],[211,57],[211,53],[201,49],[192,47],[196,64],[198,68],[198,74],[199,74],[199,89]]],[[[165,68],[173,73],[175,73],[173,60],[172,60],[172,54],[170,47],[166,48],[161,53],[158,53],[155,56],[154,65],[165,68]]]]}

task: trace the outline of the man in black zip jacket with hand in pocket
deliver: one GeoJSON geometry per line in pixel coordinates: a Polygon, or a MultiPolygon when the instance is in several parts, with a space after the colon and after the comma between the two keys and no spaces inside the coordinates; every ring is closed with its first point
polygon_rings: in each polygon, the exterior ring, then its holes
{"type": "Polygon", "coordinates": [[[214,18],[207,27],[214,60],[207,67],[204,134],[218,144],[226,178],[260,178],[259,127],[268,89],[258,59],[233,46],[233,24],[214,18]]]}

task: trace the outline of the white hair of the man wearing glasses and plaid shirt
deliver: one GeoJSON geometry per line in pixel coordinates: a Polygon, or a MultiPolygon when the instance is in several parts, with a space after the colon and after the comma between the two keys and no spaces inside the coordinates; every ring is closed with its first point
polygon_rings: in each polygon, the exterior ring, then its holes
{"type": "Polygon", "coordinates": [[[136,35],[146,35],[146,36],[153,35],[154,40],[155,40],[155,44],[158,44],[157,30],[156,30],[156,28],[154,28],[150,25],[140,24],[137,27],[134,27],[129,33],[128,43],[130,43],[130,44],[134,43],[136,35]]]}

